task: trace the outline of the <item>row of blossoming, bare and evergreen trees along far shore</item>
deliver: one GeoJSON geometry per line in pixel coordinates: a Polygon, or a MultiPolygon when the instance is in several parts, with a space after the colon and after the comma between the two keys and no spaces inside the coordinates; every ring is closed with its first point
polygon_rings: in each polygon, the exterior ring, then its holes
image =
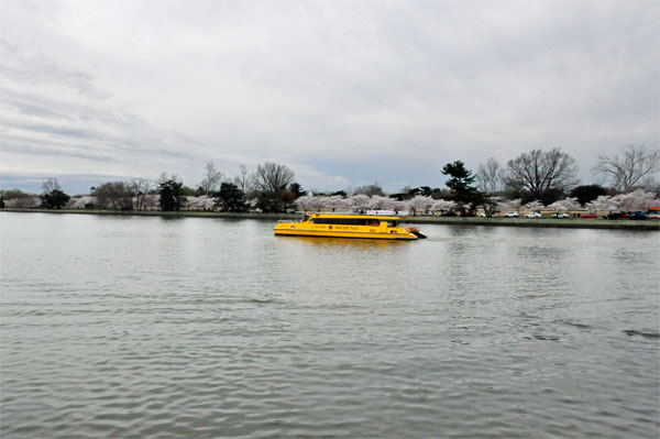
{"type": "MultiPolygon", "coordinates": [[[[607,186],[579,185],[576,161],[570,154],[560,147],[536,149],[509,160],[505,166],[491,157],[479,165],[476,173],[468,169],[462,161],[447,163],[441,169],[447,176],[446,188],[405,187],[387,195],[375,183],[354,189],[308,195],[286,165],[266,162],[257,165],[253,172],[241,165],[237,175],[228,177],[213,162],[208,162],[202,179],[195,189],[185,186],[178,176],[163,173],[155,180],[134,178],[106,182],[92,187],[88,196],[72,198],[62,190],[55,178],[48,178],[38,196],[18,189],[0,191],[0,206],[57,209],[68,205],[87,209],[158,208],[165,211],[201,208],[229,212],[377,206],[411,208],[414,211],[447,210],[461,216],[481,208],[486,216],[492,216],[498,210],[520,206],[554,206],[561,209],[571,206],[571,202],[582,207],[595,206],[590,202],[593,204],[598,197],[612,198],[635,193],[639,188],[658,196],[658,184],[653,180],[653,174],[658,171],[660,151],[644,145],[627,145],[614,155],[601,154],[592,169],[607,186]],[[562,200],[563,205],[560,202],[562,200]]],[[[601,200],[603,205],[605,198],[601,200]]]]}

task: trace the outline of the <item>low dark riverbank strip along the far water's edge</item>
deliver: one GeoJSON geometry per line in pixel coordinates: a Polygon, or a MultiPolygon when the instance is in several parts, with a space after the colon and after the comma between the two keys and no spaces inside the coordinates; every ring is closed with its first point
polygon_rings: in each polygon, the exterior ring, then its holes
{"type": "MultiPolygon", "coordinates": [[[[164,217],[164,218],[224,218],[224,219],[255,219],[263,221],[277,221],[280,219],[299,219],[300,213],[231,213],[211,212],[202,210],[183,210],[178,212],[164,212],[161,210],[119,211],[119,210],[84,210],[84,209],[11,209],[0,211],[22,213],[54,213],[54,215],[112,215],[124,217],[164,217]]],[[[408,222],[419,224],[450,224],[450,226],[494,226],[494,227],[532,227],[558,229],[616,229],[616,230],[653,230],[660,231],[659,220],[605,220],[595,218],[461,218],[461,217],[409,217],[408,222]]]]}

